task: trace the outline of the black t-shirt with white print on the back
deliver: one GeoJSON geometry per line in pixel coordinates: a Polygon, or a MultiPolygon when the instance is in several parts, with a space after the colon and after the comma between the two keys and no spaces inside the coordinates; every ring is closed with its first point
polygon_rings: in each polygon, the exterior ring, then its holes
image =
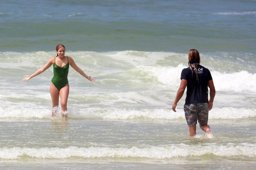
{"type": "Polygon", "coordinates": [[[180,77],[180,79],[188,81],[185,105],[191,103],[208,103],[208,81],[212,80],[212,75],[207,68],[197,65],[197,80],[193,67],[192,70],[189,67],[184,68],[180,77]]]}

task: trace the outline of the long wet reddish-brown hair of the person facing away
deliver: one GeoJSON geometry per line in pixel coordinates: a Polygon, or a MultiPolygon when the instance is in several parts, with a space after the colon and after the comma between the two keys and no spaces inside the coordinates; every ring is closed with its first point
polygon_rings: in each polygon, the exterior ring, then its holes
{"type": "MultiPolygon", "coordinates": [[[[190,70],[195,72],[196,80],[198,80],[197,66],[200,65],[200,55],[196,49],[190,49],[188,51],[188,65],[190,70]],[[192,69],[194,68],[194,69],[192,69]]],[[[193,75],[193,74],[192,74],[193,75]]]]}

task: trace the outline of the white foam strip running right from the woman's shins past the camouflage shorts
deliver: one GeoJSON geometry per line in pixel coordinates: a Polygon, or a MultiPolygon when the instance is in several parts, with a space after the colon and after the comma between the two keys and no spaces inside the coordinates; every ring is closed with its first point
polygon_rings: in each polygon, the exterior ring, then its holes
{"type": "MultiPolygon", "coordinates": [[[[104,119],[104,120],[130,120],[130,119],[185,119],[183,109],[81,109],[76,114],[70,114],[73,119],[104,119]]],[[[246,119],[256,117],[255,108],[213,108],[209,111],[209,119],[246,119]]]]}

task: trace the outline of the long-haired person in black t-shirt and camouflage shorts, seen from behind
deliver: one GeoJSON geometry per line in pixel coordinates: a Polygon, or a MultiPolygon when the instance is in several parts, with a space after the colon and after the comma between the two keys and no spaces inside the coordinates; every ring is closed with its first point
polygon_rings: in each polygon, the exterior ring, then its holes
{"type": "Polygon", "coordinates": [[[187,87],[187,96],[184,105],[185,118],[189,127],[190,136],[196,135],[197,120],[200,128],[206,132],[208,138],[213,134],[208,125],[208,111],[212,109],[215,96],[215,87],[210,71],[200,65],[200,55],[196,49],[188,51],[188,68],[181,72],[181,83],[172,110],[176,112],[176,106],[187,87]],[[208,101],[208,87],[210,88],[210,100],[208,101]]]}

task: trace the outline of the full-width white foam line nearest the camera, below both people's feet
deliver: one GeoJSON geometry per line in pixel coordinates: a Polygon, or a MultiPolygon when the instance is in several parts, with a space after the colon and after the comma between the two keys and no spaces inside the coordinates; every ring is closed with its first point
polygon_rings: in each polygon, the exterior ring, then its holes
{"type": "Polygon", "coordinates": [[[202,156],[213,154],[215,156],[256,156],[255,144],[231,144],[228,145],[207,145],[193,146],[187,144],[173,144],[168,146],[151,146],[151,147],[131,147],[131,148],[114,148],[114,147],[76,147],[66,148],[0,148],[0,158],[2,159],[19,159],[23,156],[32,158],[58,158],[65,159],[72,156],[83,158],[149,158],[149,159],[166,159],[175,157],[202,156]]]}

